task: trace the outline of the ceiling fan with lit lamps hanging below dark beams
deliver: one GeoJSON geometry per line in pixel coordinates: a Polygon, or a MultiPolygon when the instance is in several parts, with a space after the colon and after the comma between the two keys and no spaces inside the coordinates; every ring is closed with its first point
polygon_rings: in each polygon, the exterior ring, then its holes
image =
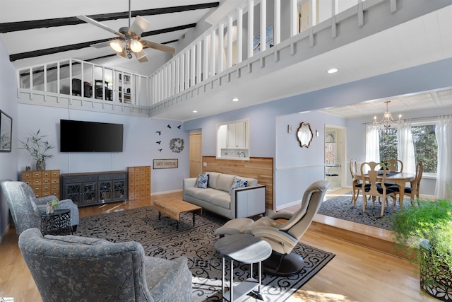
{"type": "Polygon", "coordinates": [[[119,38],[117,39],[100,42],[91,46],[96,48],[110,46],[115,52],[117,52],[117,55],[119,55],[119,57],[128,59],[131,59],[133,57],[132,54],[135,54],[135,57],[139,62],[148,62],[148,59],[146,59],[146,53],[143,51],[144,48],[153,48],[162,52],[169,52],[170,54],[174,54],[174,47],[169,47],[167,45],[162,45],[141,39],[141,34],[146,28],[148,28],[149,22],[141,16],[136,16],[135,21],[133,21],[131,25],[130,2],[131,0],[129,0],[129,27],[119,28],[119,31],[113,30],[112,28],[109,28],[108,26],[103,25],[102,23],[97,22],[92,18],[86,16],[77,16],[77,18],[82,21],[93,24],[98,28],[109,31],[110,33],[114,33],[114,35],[119,35],[119,38]]]}

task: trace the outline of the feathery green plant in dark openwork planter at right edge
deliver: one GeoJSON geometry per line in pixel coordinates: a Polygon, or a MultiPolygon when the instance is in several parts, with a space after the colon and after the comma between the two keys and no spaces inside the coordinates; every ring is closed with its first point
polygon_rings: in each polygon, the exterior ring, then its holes
{"type": "Polygon", "coordinates": [[[420,200],[393,215],[393,236],[402,252],[419,265],[420,287],[452,301],[452,200],[420,200]]]}

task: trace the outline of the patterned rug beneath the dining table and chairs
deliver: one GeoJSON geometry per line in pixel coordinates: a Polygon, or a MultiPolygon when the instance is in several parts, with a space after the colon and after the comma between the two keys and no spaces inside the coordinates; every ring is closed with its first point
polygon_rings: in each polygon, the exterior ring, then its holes
{"type": "MultiPolygon", "coordinates": [[[[367,226],[376,226],[377,228],[385,228],[391,230],[393,214],[392,198],[389,197],[389,207],[384,210],[384,216],[381,216],[381,204],[375,202],[375,207],[372,208],[372,202],[367,202],[366,211],[362,211],[362,196],[359,196],[356,206],[352,207],[352,192],[343,194],[342,196],[328,199],[321,204],[319,214],[344,219],[357,223],[367,224],[367,226]]],[[[410,205],[410,198],[404,198],[403,207],[410,205]]],[[[398,202],[395,207],[396,211],[399,209],[398,202]]]]}

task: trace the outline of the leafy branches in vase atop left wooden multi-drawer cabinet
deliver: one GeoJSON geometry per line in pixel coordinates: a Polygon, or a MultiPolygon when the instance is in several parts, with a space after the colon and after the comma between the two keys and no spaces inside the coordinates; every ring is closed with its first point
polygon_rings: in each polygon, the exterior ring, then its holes
{"type": "Polygon", "coordinates": [[[37,132],[32,132],[31,137],[28,137],[26,141],[20,141],[22,147],[20,149],[27,150],[32,158],[36,160],[36,170],[45,170],[45,160],[52,158],[53,155],[49,153],[53,148],[49,141],[44,141],[46,135],[40,134],[40,129],[37,132]]]}

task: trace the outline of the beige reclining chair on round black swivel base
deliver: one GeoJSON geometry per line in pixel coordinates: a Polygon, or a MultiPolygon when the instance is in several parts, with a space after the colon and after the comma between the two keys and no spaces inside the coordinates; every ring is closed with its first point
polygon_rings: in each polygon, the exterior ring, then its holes
{"type": "Polygon", "coordinates": [[[271,245],[272,255],[263,261],[265,272],[290,276],[303,269],[303,258],[292,250],[311,226],[329,186],[330,182],[326,180],[314,182],[304,192],[302,207],[294,214],[280,212],[263,216],[246,229],[245,233],[251,233],[271,245]]]}

